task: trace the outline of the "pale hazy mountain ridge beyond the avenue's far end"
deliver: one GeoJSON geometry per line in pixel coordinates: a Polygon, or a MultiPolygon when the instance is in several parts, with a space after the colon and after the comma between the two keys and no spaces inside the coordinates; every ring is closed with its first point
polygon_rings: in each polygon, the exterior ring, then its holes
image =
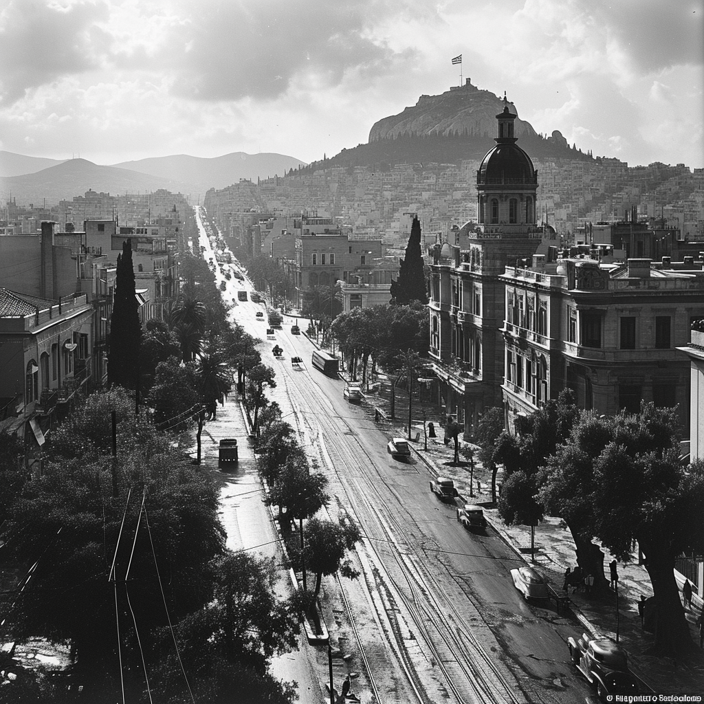
{"type": "Polygon", "coordinates": [[[189,183],[191,192],[200,194],[205,194],[210,188],[225,188],[239,182],[241,178],[256,182],[258,177],[283,176],[292,168],[305,165],[305,161],[293,156],[276,153],[247,154],[244,151],[213,158],[179,154],[114,164],[118,168],[189,183]]]}

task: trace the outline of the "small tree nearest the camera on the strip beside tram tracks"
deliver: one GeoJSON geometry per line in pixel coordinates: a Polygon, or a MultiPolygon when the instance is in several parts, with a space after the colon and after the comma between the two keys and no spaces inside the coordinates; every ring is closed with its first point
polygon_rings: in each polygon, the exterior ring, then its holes
{"type": "Polygon", "coordinates": [[[315,596],[320,593],[323,574],[327,576],[339,572],[349,579],[359,576],[346,553],[361,539],[358,526],[345,517],[338,522],[322,518],[311,518],[308,521],[303,553],[306,565],[315,572],[315,596]]]}

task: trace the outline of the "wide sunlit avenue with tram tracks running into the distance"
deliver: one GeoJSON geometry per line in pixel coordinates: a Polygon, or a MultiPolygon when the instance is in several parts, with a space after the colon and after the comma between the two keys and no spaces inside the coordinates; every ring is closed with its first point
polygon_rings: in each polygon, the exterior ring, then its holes
{"type": "MultiPolygon", "coordinates": [[[[205,256],[212,255],[206,250],[205,256]]],[[[216,277],[219,284],[220,272],[216,277]]],[[[223,296],[230,302],[245,288],[251,289],[233,278],[223,296]]],[[[348,513],[365,536],[356,555],[360,578],[324,582],[332,639],[351,655],[337,664],[336,681],[359,672],[360,699],[384,703],[591,700],[567,655],[565,639],[574,624],[553,605],[524,601],[510,578],[520,564],[513,549],[491,528],[486,534],[465,531],[455,506],[429,491],[431,475],[422,460],[391,459],[373,409],[349,404],[344,382],[313,369],[315,346],[303,334],[291,335],[294,319],[284,316],[276,342],[268,341],[268,324],[259,322],[257,310],[264,308],[240,302],[232,318],[264,340],[263,363],[276,372],[270,400],[325,470],[329,514],[348,513]],[[280,359],[271,353],[274,344],[284,350],[280,359]],[[305,368],[294,370],[291,356],[303,358],[305,368]]],[[[304,331],[308,320],[299,325],[304,331]]],[[[327,650],[319,650],[299,655],[312,655],[320,681],[327,681],[327,650]]]]}

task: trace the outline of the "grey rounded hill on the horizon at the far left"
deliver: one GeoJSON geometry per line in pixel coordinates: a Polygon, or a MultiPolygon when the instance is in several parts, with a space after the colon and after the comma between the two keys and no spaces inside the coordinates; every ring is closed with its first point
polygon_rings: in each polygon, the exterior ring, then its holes
{"type": "Polygon", "coordinates": [[[12,192],[13,200],[29,203],[58,203],[72,200],[92,189],[118,196],[125,193],[146,193],[160,188],[188,194],[188,184],[150,176],[137,171],[99,166],[87,159],[69,159],[36,173],[0,178],[0,197],[12,192]]]}

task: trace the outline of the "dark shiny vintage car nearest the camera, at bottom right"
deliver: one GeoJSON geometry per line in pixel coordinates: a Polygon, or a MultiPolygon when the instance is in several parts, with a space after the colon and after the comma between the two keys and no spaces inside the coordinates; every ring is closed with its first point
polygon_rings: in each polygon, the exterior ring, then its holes
{"type": "Polygon", "coordinates": [[[605,702],[613,694],[637,694],[638,680],[628,669],[621,646],[605,638],[589,638],[586,633],[574,641],[567,639],[570,658],[577,670],[596,687],[596,695],[605,702]]]}

